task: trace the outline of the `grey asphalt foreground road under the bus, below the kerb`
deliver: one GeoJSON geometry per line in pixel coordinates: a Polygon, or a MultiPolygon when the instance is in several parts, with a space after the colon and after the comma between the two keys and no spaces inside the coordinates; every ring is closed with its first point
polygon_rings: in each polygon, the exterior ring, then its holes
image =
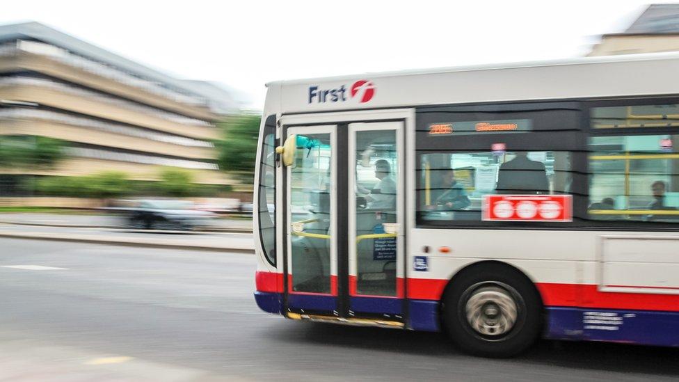
{"type": "Polygon", "coordinates": [[[243,253],[0,239],[0,380],[679,377],[677,349],[543,341],[487,360],[436,333],[289,321],[257,310],[254,271],[243,253]]]}

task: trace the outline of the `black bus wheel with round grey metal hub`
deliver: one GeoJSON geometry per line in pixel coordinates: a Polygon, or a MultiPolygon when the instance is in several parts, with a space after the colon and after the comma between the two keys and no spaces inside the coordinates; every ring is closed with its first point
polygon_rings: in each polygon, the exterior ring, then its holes
{"type": "Polygon", "coordinates": [[[522,273],[488,264],[455,276],[442,301],[442,324],[463,351],[515,356],[530,347],[543,325],[542,302],[522,273]]]}

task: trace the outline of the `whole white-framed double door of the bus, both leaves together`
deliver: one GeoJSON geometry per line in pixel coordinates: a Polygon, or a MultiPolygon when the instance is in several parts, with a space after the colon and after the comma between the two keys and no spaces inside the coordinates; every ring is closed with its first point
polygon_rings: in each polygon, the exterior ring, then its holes
{"type": "Polygon", "coordinates": [[[402,321],[403,125],[285,129],[289,317],[402,321]]]}

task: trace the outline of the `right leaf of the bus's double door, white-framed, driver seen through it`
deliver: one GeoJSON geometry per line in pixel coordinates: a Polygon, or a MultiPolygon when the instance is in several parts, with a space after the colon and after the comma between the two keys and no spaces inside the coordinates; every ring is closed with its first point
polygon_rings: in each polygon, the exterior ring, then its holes
{"type": "Polygon", "coordinates": [[[349,315],[403,319],[404,122],[349,124],[349,315]]]}

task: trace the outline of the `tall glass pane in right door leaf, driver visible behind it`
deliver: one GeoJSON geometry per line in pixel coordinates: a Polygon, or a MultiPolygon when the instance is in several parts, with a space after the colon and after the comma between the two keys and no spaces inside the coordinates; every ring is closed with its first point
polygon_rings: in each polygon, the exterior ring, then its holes
{"type": "Polygon", "coordinates": [[[352,294],[397,294],[399,158],[395,130],[356,132],[356,284],[352,294]]]}

